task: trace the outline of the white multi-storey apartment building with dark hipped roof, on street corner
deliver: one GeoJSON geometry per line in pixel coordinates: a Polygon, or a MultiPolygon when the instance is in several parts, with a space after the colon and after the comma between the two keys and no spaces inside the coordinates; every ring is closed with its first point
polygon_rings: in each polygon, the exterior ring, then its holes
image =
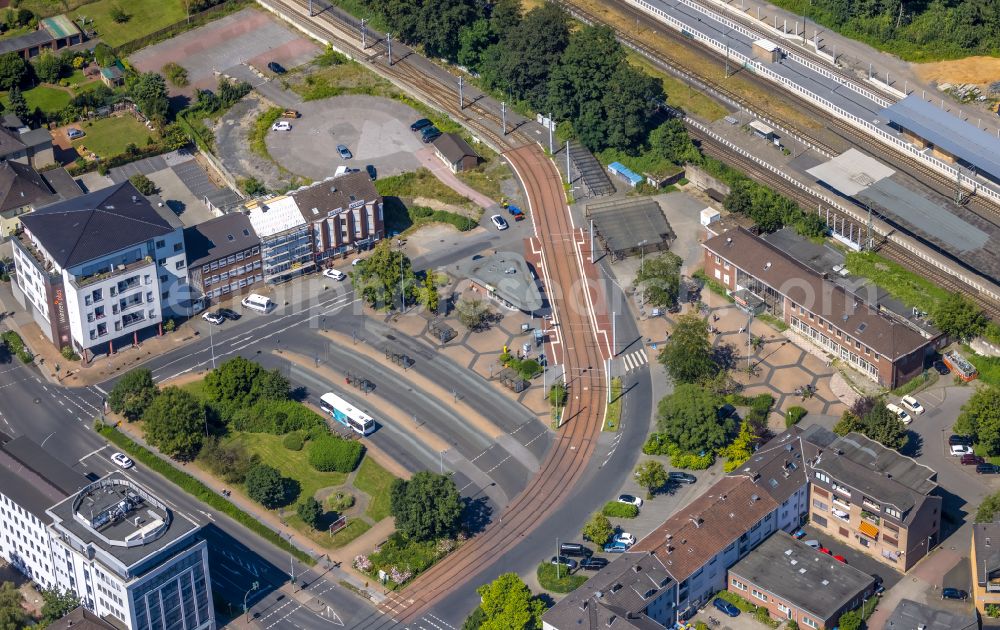
{"type": "Polygon", "coordinates": [[[15,298],[57,347],[113,353],[189,306],[182,226],[129,182],[21,217],[15,298]]]}

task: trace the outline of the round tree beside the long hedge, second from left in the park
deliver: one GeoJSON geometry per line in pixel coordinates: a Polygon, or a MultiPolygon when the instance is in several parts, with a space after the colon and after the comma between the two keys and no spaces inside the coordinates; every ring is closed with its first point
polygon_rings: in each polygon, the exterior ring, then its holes
{"type": "Polygon", "coordinates": [[[164,455],[190,460],[205,439],[205,406],[179,387],[167,387],[143,414],[146,439],[164,455]]]}

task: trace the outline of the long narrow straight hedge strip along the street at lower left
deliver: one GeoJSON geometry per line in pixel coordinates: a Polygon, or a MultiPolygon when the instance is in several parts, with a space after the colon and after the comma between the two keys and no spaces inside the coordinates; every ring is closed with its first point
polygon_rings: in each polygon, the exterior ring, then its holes
{"type": "Polygon", "coordinates": [[[222,495],[213,491],[211,488],[186,472],[177,470],[170,462],[158,457],[149,449],[132,441],[132,439],[124,433],[121,433],[113,427],[105,425],[100,420],[94,422],[94,430],[104,436],[109,442],[112,442],[118,446],[118,448],[128,453],[132,459],[145,464],[151,470],[163,475],[168,481],[179,486],[191,496],[199,499],[202,503],[209,505],[212,509],[222,512],[271,544],[289,552],[300,561],[308,563],[309,565],[316,564],[316,561],[312,558],[312,556],[279,536],[277,532],[262,523],[257,519],[257,517],[239,509],[231,501],[226,500],[222,495]]]}

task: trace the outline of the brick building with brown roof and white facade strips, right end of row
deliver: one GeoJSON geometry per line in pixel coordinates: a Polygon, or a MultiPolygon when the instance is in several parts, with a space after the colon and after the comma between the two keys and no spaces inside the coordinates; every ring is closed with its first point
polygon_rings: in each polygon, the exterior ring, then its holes
{"type": "Polygon", "coordinates": [[[291,193],[309,225],[313,260],[364,251],[385,238],[382,196],[365,172],[329,177],[291,193]]]}

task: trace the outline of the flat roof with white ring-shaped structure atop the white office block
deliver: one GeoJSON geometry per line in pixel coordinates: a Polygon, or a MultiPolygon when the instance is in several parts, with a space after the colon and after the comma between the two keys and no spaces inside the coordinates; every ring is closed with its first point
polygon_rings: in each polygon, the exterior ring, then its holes
{"type": "Polygon", "coordinates": [[[135,567],[150,556],[162,551],[197,529],[197,525],[183,514],[170,510],[162,499],[119,471],[91,483],[77,493],[50,507],[49,513],[58,522],[56,527],[70,532],[83,541],[93,544],[117,558],[126,567],[135,567]],[[91,527],[90,519],[98,517],[130,497],[141,497],[138,505],[127,512],[124,518],[112,518],[104,524],[91,527]],[[81,518],[77,518],[80,516],[81,518]],[[139,518],[138,524],[135,518],[139,518]],[[156,529],[157,520],[167,524],[156,537],[150,537],[142,544],[123,546],[109,541],[136,541],[138,532],[144,528],[156,529]],[[88,522],[83,522],[88,521],[88,522]]]}

